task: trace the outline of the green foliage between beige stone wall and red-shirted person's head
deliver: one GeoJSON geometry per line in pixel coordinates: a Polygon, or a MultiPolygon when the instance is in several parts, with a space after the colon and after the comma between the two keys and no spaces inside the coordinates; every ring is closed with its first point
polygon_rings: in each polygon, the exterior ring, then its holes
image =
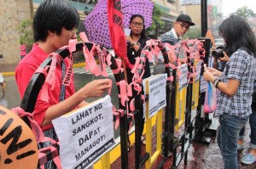
{"type": "Polygon", "coordinates": [[[20,31],[20,44],[31,46],[34,42],[32,20],[23,20],[18,30],[20,31]]]}

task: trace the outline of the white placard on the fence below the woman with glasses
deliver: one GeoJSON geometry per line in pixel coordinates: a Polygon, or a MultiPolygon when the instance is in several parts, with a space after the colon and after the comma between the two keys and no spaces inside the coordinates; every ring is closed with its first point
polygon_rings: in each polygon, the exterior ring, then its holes
{"type": "MultiPolygon", "coordinates": [[[[143,79],[143,90],[146,91],[148,81],[148,118],[166,107],[166,79],[167,74],[158,74],[143,79]]],[[[145,115],[145,106],[144,106],[145,115]]]]}

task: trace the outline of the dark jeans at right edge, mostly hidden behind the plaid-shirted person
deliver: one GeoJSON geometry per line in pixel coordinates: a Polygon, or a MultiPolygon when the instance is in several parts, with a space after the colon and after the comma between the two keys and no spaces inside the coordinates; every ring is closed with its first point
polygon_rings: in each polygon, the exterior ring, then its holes
{"type": "MultiPolygon", "coordinates": [[[[256,149],[256,103],[252,104],[252,110],[253,110],[253,114],[250,115],[250,120],[249,120],[250,127],[251,127],[250,148],[256,149]]],[[[244,131],[245,131],[245,127],[242,127],[241,131],[239,132],[239,139],[243,139],[244,138],[244,131]]]]}

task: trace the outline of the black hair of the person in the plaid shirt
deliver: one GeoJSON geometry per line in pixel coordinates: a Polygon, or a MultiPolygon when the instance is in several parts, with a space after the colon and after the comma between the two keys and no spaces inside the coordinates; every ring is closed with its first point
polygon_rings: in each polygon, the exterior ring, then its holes
{"type": "Polygon", "coordinates": [[[224,37],[225,52],[230,56],[237,49],[243,48],[248,54],[256,56],[256,39],[252,28],[240,16],[231,15],[218,27],[218,33],[224,37]]]}

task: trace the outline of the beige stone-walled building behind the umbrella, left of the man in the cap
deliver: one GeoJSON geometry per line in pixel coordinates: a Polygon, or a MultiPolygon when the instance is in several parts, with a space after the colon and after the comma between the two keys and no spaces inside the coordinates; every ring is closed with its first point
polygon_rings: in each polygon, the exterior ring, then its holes
{"type": "MultiPolygon", "coordinates": [[[[16,65],[20,61],[20,24],[23,20],[32,20],[33,14],[43,0],[2,0],[0,5],[0,66],[16,65]]],[[[83,21],[94,8],[96,0],[68,1],[78,9],[80,15],[79,31],[84,31],[83,21]]],[[[152,0],[164,14],[161,20],[165,26],[160,35],[172,28],[180,13],[180,0],[152,0]]],[[[27,52],[29,52],[27,48],[27,52]]]]}

